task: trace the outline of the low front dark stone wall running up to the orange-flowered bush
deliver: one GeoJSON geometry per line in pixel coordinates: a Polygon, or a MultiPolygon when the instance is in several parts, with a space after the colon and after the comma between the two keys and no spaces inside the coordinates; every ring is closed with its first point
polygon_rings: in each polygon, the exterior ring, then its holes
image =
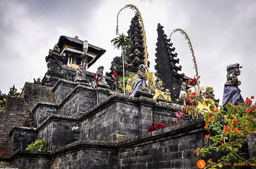
{"type": "Polygon", "coordinates": [[[207,142],[203,125],[193,126],[171,126],[145,134],[142,142],[120,146],[119,168],[198,168],[193,151],[207,142]]]}

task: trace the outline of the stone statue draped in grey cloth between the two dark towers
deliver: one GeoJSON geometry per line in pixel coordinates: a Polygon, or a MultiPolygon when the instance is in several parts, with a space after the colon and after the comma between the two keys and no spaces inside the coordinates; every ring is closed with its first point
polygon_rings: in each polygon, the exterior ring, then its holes
{"type": "Polygon", "coordinates": [[[139,65],[139,70],[137,72],[138,78],[135,81],[134,89],[131,91],[132,97],[136,97],[139,91],[145,91],[148,90],[147,84],[146,84],[146,65],[141,64],[139,65]]]}

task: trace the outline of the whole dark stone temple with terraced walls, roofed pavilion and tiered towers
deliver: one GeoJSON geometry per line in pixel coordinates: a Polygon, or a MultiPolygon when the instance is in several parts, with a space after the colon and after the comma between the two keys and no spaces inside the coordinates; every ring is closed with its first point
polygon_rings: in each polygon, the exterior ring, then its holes
{"type": "MultiPolygon", "coordinates": [[[[178,54],[160,24],[157,33],[155,68],[171,98],[178,98],[180,85],[188,78],[178,73],[178,54]]],[[[134,45],[125,54],[126,74],[136,73],[144,60],[137,15],[128,35],[134,45]]],[[[105,52],[89,43],[87,68],[105,57],[105,52]]],[[[82,54],[83,40],[61,36],[46,57],[48,70],[43,79],[26,82],[18,97],[5,96],[0,113],[0,167],[198,168],[199,158],[193,151],[208,145],[203,119],[169,126],[183,106],[173,101],[155,101],[152,94],[144,91],[137,98],[115,93],[111,74],[115,66],[121,75],[120,57],[114,58],[110,73],[106,73],[107,85],[92,88],[96,74],[89,71],[87,83],[75,82],[82,54]],[[149,132],[147,129],[154,122],[164,122],[167,127],[149,132]],[[25,150],[37,139],[47,140],[50,151],[25,150]]],[[[255,155],[250,150],[247,153],[255,155]]]]}

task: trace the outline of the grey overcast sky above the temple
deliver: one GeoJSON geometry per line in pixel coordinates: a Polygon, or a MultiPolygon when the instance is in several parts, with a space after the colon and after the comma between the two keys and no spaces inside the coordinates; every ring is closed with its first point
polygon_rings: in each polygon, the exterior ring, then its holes
{"type": "MultiPolygon", "coordinates": [[[[239,80],[243,97],[256,94],[256,1],[15,1],[0,0],[0,90],[8,93],[13,84],[20,90],[25,81],[46,73],[45,56],[61,35],[87,39],[107,52],[89,68],[95,72],[120,51],[110,40],[115,38],[116,15],[125,4],[135,4],[141,11],[147,34],[151,70],[154,70],[157,23],[165,33],[182,28],[189,34],[199,66],[201,84],[213,86],[222,100],[226,67],[243,66],[239,80]]],[[[119,18],[120,33],[129,29],[134,11],[125,9],[119,18]]],[[[195,70],[187,42],[174,34],[181,72],[193,77],[195,70]]]]}

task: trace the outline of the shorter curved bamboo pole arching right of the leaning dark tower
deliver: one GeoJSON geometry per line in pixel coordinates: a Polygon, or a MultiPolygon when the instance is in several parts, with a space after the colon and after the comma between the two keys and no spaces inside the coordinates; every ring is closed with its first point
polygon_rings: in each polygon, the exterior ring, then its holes
{"type": "MultiPolygon", "coordinates": [[[[190,49],[190,52],[192,54],[192,57],[193,57],[193,62],[194,62],[194,68],[195,68],[195,75],[196,75],[196,78],[199,79],[199,73],[198,73],[198,64],[196,63],[196,59],[195,59],[195,53],[194,53],[194,49],[193,49],[193,46],[192,46],[192,43],[190,41],[190,38],[189,38],[189,35],[185,32],[185,30],[183,29],[174,29],[174,31],[170,34],[170,38],[171,38],[171,35],[175,32],[180,32],[182,35],[184,35],[185,37],[185,40],[188,40],[188,44],[189,44],[189,49],[190,49]]],[[[198,94],[200,94],[200,91],[199,91],[199,80],[198,80],[198,94]]]]}

